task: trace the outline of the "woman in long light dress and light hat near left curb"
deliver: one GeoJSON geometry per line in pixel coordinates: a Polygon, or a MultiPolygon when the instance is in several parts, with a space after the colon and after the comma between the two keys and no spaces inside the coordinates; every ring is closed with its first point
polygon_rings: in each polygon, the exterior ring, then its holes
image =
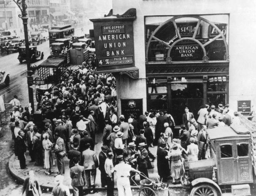
{"type": "Polygon", "coordinates": [[[54,165],[54,159],[52,156],[52,145],[53,143],[49,140],[49,134],[43,134],[44,140],[42,141],[44,147],[44,168],[46,169],[45,174],[50,175],[52,173],[51,167],[54,165]]]}

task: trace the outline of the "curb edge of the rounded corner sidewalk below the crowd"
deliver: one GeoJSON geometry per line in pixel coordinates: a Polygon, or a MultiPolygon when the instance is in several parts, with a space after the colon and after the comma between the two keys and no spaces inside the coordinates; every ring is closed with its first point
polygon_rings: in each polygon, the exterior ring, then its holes
{"type": "MultiPolygon", "coordinates": [[[[16,180],[20,183],[24,183],[25,179],[16,175],[15,172],[14,172],[15,168],[12,165],[12,163],[14,162],[14,157],[15,157],[15,155],[12,155],[12,157],[9,159],[8,169],[10,171],[10,174],[11,174],[12,178],[14,178],[14,180],[16,180]]],[[[52,191],[54,186],[46,186],[44,184],[41,184],[40,187],[44,191],[52,191]]],[[[169,186],[169,189],[172,189],[172,188],[178,189],[178,188],[184,188],[184,187],[181,184],[175,184],[175,185],[169,186]]],[[[138,190],[138,189],[140,189],[140,187],[139,186],[131,186],[131,189],[138,190]]],[[[70,193],[73,193],[73,188],[69,188],[69,190],[70,190],[70,193]]],[[[107,189],[106,188],[101,188],[101,187],[96,187],[94,189],[93,188],[84,188],[83,189],[83,191],[86,192],[86,193],[89,193],[92,190],[94,190],[94,192],[99,192],[99,191],[106,191],[107,189]]],[[[114,190],[117,190],[117,187],[114,187],[114,190]]]]}

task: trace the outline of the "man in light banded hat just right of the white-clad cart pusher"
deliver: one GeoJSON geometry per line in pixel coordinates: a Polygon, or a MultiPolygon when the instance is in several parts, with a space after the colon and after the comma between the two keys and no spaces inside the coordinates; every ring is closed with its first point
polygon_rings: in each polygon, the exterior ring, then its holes
{"type": "MultiPolygon", "coordinates": [[[[127,163],[129,165],[132,166],[133,169],[137,168],[137,157],[138,157],[138,152],[135,150],[136,145],[134,144],[134,142],[130,142],[128,144],[128,149],[127,149],[127,163]]],[[[135,172],[130,172],[130,184],[131,185],[135,185],[134,184],[134,180],[135,180],[135,172]]]]}

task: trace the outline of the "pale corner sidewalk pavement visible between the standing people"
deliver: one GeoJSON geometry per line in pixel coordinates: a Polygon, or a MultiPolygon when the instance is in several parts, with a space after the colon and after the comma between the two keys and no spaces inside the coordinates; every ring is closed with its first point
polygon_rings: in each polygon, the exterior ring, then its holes
{"type": "MultiPolygon", "coordinates": [[[[98,141],[98,144],[95,145],[94,150],[96,151],[97,157],[101,151],[101,146],[102,146],[101,135],[102,134],[96,135],[96,141],[98,141]]],[[[150,147],[149,150],[151,151],[152,154],[156,155],[157,147],[154,147],[154,148],[150,147]]],[[[28,177],[27,172],[30,170],[34,170],[35,176],[38,179],[38,182],[41,185],[41,188],[44,190],[49,189],[49,191],[51,191],[52,188],[55,186],[54,176],[58,172],[56,159],[54,159],[55,165],[54,165],[54,167],[52,167],[52,171],[54,172],[54,173],[52,173],[52,175],[46,175],[44,173],[45,170],[43,169],[42,166],[39,166],[39,167],[34,166],[34,162],[29,163],[29,161],[30,161],[30,156],[28,155],[28,151],[27,151],[26,152],[26,164],[28,165],[27,166],[28,169],[22,170],[22,169],[20,169],[20,163],[19,163],[18,158],[15,155],[12,155],[12,157],[9,160],[9,169],[10,169],[10,173],[12,174],[12,176],[15,178],[15,180],[24,182],[24,180],[28,177]]],[[[65,164],[64,184],[70,188],[71,192],[73,192],[73,188],[71,186],[71,178],[70,178],[70,174],[69,174],[70,169],[68,167],[68,163],[69,163],[69,159],[67,157],[65,157],[64,158],[64,164],[65,164]]],[[[157,172],[156,159],[154,161],[154,169],[148,170],[148,174],[149,174],[149,178],[156,180],[156,182],[157,182],[157,178],[159,179],[158,172],[157,172]]],[[[140,181],[139,176],[136,176],[136,180],[139,183],[139,181],[140,181]]],[[[171,183],[171,180],[168,181],[168,184],[169,184],[170,188],[182,188],[181,184],[174,185],[171,183]]],[[[106,188],[101,188],[100,171],[98,169],[97,169],[97,173],[96,173],[95,185],[96,185],[97,191],[106,190],[106,188]]],[[[115,188],[116,188],[116,179],[115,179],[115,188]]],[[[137,189],[137,188],[138,188],[137,186],[132,186],[132,189],[137,189]]],[[[84,188],[85,192],[89,192],[90,190],[91,189],[84,188]]]]}

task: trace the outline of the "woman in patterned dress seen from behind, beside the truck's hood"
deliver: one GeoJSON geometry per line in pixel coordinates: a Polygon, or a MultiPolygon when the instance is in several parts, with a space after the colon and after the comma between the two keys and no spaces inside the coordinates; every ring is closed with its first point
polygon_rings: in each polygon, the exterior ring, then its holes
{"type": "Polygon", "coordinates": [[[171,160],[171,176],[172,176],[172,183],[176,183],[176,180],[182,175],[182,161],[181,161],[181,154],[182,152],[178,149],[178,146],[174,144],[172,146],[172,151],[170,153],[170,160],[171,160]]]}

